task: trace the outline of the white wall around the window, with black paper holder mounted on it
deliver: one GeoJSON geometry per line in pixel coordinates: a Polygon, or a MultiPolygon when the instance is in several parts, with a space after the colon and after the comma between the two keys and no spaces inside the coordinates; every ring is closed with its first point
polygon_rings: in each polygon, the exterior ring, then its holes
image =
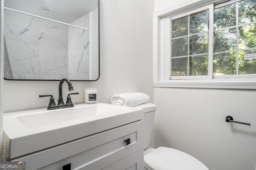
{"type": "MultiPolygon", "coordinates": [[[[181,2],[156,0],[155,12],[181,2]]],[[[154,88],[154,102],[155,147],[182,150],[209,170],[255,169],[256,90],[154,88]]]]}

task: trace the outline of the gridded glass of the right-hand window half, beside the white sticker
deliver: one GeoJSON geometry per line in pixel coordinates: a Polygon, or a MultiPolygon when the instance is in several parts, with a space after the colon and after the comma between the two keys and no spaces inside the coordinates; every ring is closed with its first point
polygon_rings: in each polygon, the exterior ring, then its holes
{"type": "Polygon", "coordinates": [[[256,1],[243,0],[214,9],[213,75],[256,74],[256,1]]]}

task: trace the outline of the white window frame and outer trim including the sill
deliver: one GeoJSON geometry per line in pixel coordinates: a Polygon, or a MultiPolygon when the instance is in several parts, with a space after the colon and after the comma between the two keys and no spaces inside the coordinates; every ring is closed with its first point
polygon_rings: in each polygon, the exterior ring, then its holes
{"type": "MultiPolygon", "coordinates": [[[[176,6],[172,6],[160,12],[154,13],[153,20],[153,83],[154,87],[181,87],[181,88],[238,88],[238,89],[256,89],[255,75],[227,75],[227,76],[212,76],[212,57],[213,48],[212,41],[209,41],[209,68],[208,76],[198,76],[197,79],[193,79],[194,76],[184,80],[170,80],[170,47],[166,48],[166,44],[170,44],[170,24],[166,23],[166,20],[170,20],[170,16],[176,16],[181,13],[189,12],[193,9],[209,8],[210,12],[213,12],[214,2],[220,0],[188,0],[176,6]],[[166,19],[167,18],[167,19],[166,19]],[[166,31],[169,30],[169,31],[166,31]],[[168,34],[169,32],[169,34],[168,34]],[[212,54],[210,54],[212,53],[212,54]]],[[[190,14],[191,12],[189,12],[190,14]]],[[[209,25],[213,24],[213,18],[209,17],[209,25]]],[[[213,38],[213,26],[209,26],[209,39],[213,38]]],[[[170,46],[170,45],[169,45],[170,46]]]]}

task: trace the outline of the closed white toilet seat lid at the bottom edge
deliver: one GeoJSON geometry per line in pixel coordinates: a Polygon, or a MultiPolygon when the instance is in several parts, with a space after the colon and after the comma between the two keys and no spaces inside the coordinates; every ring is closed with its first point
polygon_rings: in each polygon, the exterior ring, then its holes
{"type": "Polygon", "coordinates": [[[209,170],[193,156],[167,147],[159,147],[144,155],[144,163],[152,170],[209,170]]]}

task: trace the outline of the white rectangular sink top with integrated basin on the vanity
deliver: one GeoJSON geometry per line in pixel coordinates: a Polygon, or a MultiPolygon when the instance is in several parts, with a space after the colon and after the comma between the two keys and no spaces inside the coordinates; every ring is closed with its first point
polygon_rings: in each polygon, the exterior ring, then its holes
{"type": "Polygon", "coordinates": [[[4,113],[4,148],[12,160],[143,118],[142,109],[103,103],[4,113]]]}

